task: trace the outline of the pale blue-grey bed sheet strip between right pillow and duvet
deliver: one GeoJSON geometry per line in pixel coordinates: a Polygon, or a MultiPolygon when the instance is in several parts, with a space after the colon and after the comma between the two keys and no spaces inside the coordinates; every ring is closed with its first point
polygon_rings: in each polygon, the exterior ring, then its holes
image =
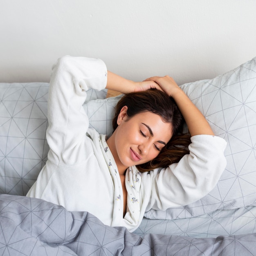
{"type": "MultiPolygon", "coordinates": [[[[184,207],[185,208],[185,207],[184,207]]],[[[134,231],[145,234],[178,235],[193,238],[216,238],[256,232],[256,207],[248,206],[232,210],[216,210],[202,216],[175,220],[144,218],[134,231]]]]}

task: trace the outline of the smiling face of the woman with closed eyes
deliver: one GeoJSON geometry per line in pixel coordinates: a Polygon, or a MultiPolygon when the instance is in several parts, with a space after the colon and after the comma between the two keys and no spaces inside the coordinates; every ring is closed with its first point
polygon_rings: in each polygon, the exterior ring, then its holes
{"type": "Polygon", "coordinates": [[[143,112],[128,118],[126,111],[125,106],[117,129],[107,141],[119,171],[154,159],[172,136],[171,124],[159,115],[143,112]]]}

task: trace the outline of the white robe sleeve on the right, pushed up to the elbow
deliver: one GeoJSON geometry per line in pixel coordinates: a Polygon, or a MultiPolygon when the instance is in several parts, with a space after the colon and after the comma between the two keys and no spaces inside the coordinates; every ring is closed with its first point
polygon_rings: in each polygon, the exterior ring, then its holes
{"type": "Polygon", "coordinates": [[[207,195],[216,186],[227,164],[226,145],[224,139],[212,135],[191,137],[190,153],[180,162],[145,175],[144,182],[150,176],[152,185],[146,211],[187,205],[207,195]]]}

